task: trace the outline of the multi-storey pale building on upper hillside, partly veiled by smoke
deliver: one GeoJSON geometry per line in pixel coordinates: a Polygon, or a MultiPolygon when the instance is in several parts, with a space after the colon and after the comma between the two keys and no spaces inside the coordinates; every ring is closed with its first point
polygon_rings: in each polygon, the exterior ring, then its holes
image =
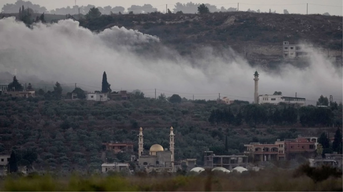
{"type": "Polygon", "coordinates": [[[282,45],[283,58],[306,57],[313,51],[313,45],[310,44],[289,44],[284,41],[282,45]]]}

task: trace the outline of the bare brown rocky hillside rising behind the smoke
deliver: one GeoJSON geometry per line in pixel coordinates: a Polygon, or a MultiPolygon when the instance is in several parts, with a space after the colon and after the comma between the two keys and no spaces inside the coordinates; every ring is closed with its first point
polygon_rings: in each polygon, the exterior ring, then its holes
{"type": "MultiPolygon", "coordinates": [[[[268,65],[282,60],[282,41],[308,41],[341,56],[343,17],[324,15],[223,12],[211,14],[103,15],[81,20],[93,31],[123,26],[156,35],[181,54],[202,46],[232,47],[251,64],[268,65]]],[[[325,51],[326,53],[327,51],[325,51]]]]}

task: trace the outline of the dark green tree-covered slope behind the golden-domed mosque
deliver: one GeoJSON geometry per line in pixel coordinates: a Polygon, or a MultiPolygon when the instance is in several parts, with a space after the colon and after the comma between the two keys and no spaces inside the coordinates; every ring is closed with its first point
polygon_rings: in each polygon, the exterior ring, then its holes
{"type": "MultiPolygon", "coordinates": [[[[15,150],[18,164],[56,172],[94,170],[105,157],[109,162],[128,161],[129,154],[105,153],[102,142],[136,142],[140,126],[145,150],[154,143],[168,148],[173,126],[176,160],[197,158],[201,165],[206,148],[215,154],[239,154],[249,142],[273,143],[277,138],[320,135],[324,130],[333,133],[336,128],[323,127],[339,126],[343,119],[342,106],[297,109],[204,100],[172,104],[147,98],[95,102],[45,95],[28,100],[0,97],[0,153],[15,150]]],[[[134,149],[137,153],[137,145],[134,149]]]]}

